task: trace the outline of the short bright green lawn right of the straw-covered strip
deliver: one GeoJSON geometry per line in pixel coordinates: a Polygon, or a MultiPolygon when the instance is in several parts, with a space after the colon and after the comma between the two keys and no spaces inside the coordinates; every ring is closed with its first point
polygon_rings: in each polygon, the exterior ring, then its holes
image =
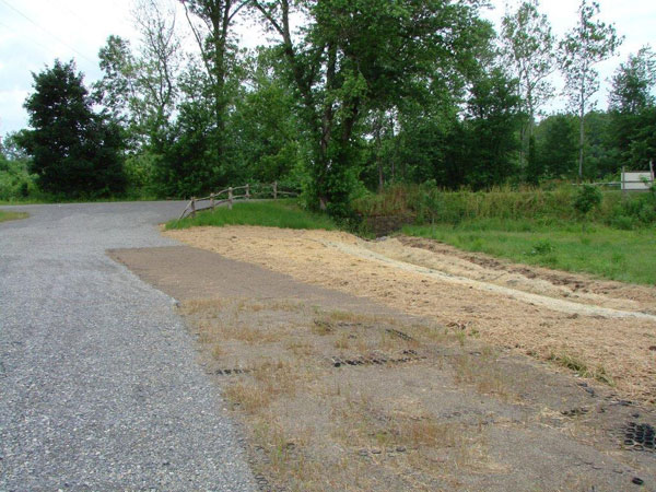
{"type": "Polygon", "coordinates": [[[605,225],[481,219],[458,225],[410,225],[403,233],[468,251],[629,283],[656,284],[656,227],[622,231],[605,225]]]}

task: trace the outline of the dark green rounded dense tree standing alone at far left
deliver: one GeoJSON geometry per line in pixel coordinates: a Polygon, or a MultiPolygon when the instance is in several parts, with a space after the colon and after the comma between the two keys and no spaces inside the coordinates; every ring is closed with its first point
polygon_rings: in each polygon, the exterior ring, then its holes
{"type": "Polygon", "coordinates": [[[116,124],[92,110],[93,101],[73,61],[55,61],[33,74],[25,101],[33,130],[20,140],[33,156],[39,187],[71,197],[107,196],[125,188],[122,141],[116,124]]]}

